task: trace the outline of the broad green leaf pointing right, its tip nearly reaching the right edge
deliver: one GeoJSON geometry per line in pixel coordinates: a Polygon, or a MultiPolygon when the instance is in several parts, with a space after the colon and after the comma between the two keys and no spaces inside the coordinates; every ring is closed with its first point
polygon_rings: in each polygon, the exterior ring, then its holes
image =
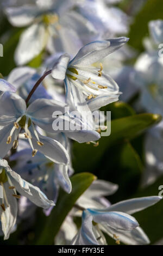
{"type": "Polygon", "coordinates": [[[148,127],[159,123],[161,116],[158,114],[131,115],[111,121],[111,135],[102,137],[99,146],[86,143],[73,145],[73,167],[77,172],[93,171],[106,149],[123,141],[133,139],[148,127]]]}

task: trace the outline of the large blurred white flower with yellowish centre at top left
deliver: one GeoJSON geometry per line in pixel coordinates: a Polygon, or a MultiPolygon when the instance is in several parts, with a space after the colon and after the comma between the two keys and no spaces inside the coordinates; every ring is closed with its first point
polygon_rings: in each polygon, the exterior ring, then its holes
{"type": "Polygon", "coordinates": [[[82,15],[71,10],[72,0],[36,1],[20,7],[7,7],[5,13],[13,26],[29,26],[22,34],[15,52],[18,65],[28,63],[45,47],[51,53],[76,53],[83,42],[80,39],[95,35],[96,31],[82,15]]]}

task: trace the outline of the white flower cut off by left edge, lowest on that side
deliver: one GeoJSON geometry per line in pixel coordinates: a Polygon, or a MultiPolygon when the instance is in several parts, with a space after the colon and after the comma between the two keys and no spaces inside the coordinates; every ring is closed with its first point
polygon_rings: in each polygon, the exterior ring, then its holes
{"type": "Polygon", "coordinates": [[[15,173],[6,160],[0,159],[0,202],[1,225],[4,239],[8,239],[14,228],[17,217],[17,192],[27,197],[31,202],[44,209],[54,205],[38,187],[33,186],[15,173]]]}

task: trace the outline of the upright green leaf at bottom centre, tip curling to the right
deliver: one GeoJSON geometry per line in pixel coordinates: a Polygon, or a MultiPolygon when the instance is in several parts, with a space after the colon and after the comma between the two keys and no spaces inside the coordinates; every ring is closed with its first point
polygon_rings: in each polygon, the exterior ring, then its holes
{"type": "Polygon", "coordinates": [[[39,240],[36,242],[37,245],[53,244],[54,237],[57,235],[68,212],[70,212],[77,199],[82,196],[95,179],[96,176],[91,173],[80,173],[72,176],[72,192],[70,194],[64,191],[60,192],[57,204],[54,206],[51,215],[46,217],[46,224],[39,240]]]}

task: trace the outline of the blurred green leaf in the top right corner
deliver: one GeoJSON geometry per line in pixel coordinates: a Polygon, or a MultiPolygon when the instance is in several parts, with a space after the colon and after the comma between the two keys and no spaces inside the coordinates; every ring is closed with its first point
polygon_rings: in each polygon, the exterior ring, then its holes
{"type": "Polygon", "coordinates": [[[148,0],[141,11],[135,16],[133,24],[130,26],[129,44],[142,51],[142,39],[148,35],[148,22],[150,20],[162,19],[162,13],[162,0],[148,0]]]}

